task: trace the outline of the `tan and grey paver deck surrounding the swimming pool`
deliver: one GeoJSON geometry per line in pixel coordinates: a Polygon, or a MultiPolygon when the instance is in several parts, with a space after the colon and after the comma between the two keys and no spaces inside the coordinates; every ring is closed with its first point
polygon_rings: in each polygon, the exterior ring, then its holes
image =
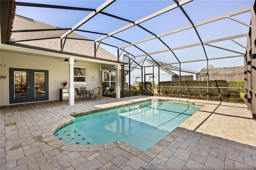
{"type": "Polygon", "coordinates": [[[0,113],[1,170],[256,169],[256,121],[244,104],[170,97],[102,97],[101,101],[76,101],[73,106],[68,101],[11,105],[1,107],[0,113]],[[89,148],[52,142],[52,127],[72,119],[70,114],[147,99],[186,101],[204,107],[146,152],[121,141],[89,148]]]}

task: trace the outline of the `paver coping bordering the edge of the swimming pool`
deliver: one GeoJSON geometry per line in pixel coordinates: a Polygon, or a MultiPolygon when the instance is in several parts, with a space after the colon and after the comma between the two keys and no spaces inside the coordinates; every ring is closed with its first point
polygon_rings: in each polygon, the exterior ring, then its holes
{"type": "Polygon", "coordinates": [[[201,110],[205,110],[207,107],[209,107],[211,104],[207,103],[198,103],[196,101],[190,100],[190,99],[173,99],[173,98],[143,98],[138,99],[136,101],[128,101],[126,103],[122,102],[116,102],[115,106],[112,107],[106,107],[104,109],[94,109],[92,111],[84,112],[84,113],[70,113],[69,115],[65,115],[66,119],[63,119],[61,121],[58,121],[49,127],[47,127],[41,134],[42,140],[48,144],[49,146],[52,146],[54,148],[58,148],[60,150],[66,150],[71,152],[91,152],[91,151],[100,151],[100,150],[107,150],[111,148],[120,147],[127,152],[130,152],[134,156],[137,156],[138,158],[141,158],[142,160],[146,162],[150,162],[158,153],[160,153],[168,144],[170,144],[177,136],[180,134],[184,129],[186,129],[197,117],[199,117],[202,113],[201,110]],[[191,117],[189,117],[186,121],[184,121],[182,124],[180,124],[177,128],[172,130],[169,134],[164,136],[161,140],[156,142],[152,147],[150,147],[148,150],[143,151],[135,146],[132,146],[124,141],[116,141],[116,142],[110,142],[106,144],[99,144],[99,145],[76,145],[76,144],[69,144],[66,142],[62,142],[55,138],[53,136],[54,132],[58,130],[61,127],[64,127],[70,123],[72,123],[75,120],[75,117],[80,115],[85,115],[89,113],[93,113],[95,111],[103,111],[106,109],[113,109],[116,107],[122,107],[126,105],[131,105],[135,103],[139,103],[142,101],[181,101],[181,102],[187,102],[194,105],[200,105],[203,106],[199,111],[194,113],[191,117]]]}

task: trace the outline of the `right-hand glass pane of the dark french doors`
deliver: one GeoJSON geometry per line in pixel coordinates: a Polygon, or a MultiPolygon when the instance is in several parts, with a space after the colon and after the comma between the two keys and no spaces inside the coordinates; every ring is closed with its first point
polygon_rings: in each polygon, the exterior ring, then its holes
{"type": "Polygon", "coordinates": [[[45,73],[43,72],[35,72],[35,93],[34,97],[45,97],[45,73]]]}

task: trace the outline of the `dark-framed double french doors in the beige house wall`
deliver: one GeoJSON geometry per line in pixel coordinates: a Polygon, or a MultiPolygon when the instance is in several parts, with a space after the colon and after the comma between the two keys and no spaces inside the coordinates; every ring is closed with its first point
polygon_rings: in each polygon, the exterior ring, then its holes
{"type": "Polygon", "coordinates": [[[9,69],[10,103],[48,100],[48,70],[9,69]]]}

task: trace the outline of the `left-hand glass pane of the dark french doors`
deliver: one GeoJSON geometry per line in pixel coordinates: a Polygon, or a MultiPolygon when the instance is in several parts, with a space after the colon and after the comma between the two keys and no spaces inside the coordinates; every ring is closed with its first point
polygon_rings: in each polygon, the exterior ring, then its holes
{"type": "Polygon", "coordinates": [[[27,98],[27,72],[14,71],[14,99],[27,98]]]}

